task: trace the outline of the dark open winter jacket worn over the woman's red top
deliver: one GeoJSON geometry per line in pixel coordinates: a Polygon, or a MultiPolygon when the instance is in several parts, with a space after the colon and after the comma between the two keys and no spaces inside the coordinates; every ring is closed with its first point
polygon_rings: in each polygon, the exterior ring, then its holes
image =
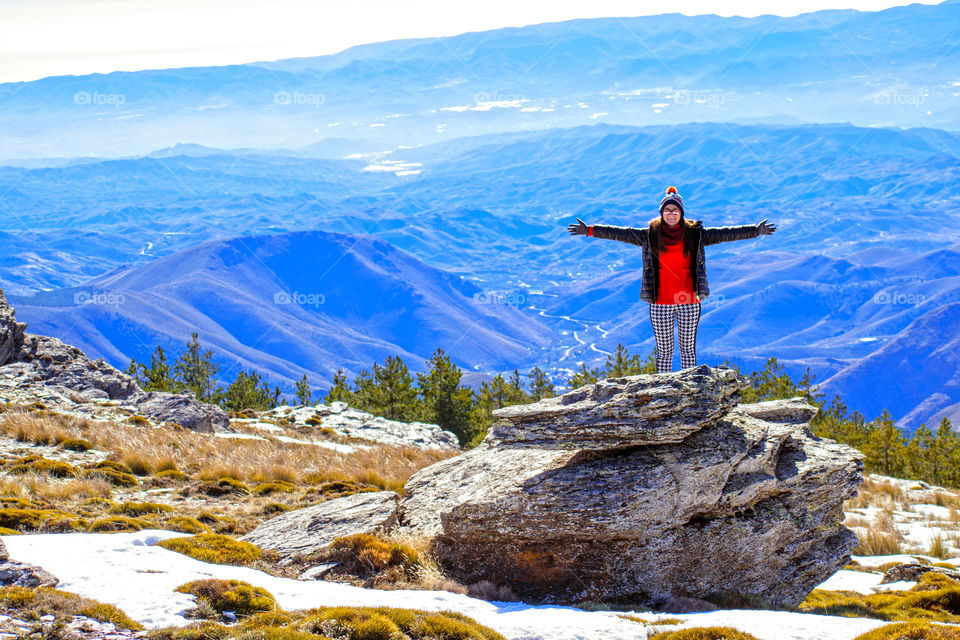
{"type": "MultiPolygon", "coordinates": [[[[614,227],[609,225],[593,225],[593,237],[607,240],[629,242],[643,249],[643,276],[640,284],[640,299],[647,302],[657,301],[659,285],[659,218],[650,221],[650,225],[643,227],[614,227]]],[[[703,248],[711,244],[730,242],[732,240],[747,240],[760,235],[758,225],[743,225],[739,227],[704,227],[701,221],[688,223],[684,244],[688,253],[696,251],[691,272],[693,274],[693,288],[700,299],[710,295],[707,286],[707,269],[703,248]]]]}

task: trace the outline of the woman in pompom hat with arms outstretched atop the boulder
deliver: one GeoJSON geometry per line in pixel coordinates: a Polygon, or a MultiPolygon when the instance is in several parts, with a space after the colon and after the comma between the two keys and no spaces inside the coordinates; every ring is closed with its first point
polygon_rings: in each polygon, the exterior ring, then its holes
{"type": "Polygon", "coordinates": [[[660,217],[646,228],[586,225],[580,218],[567,230],[573,235],[629,242],[643,249],[640,299],[650,303],[650,324],[657,341],[657,373],[673,368],[673,326],[679,325],[680,368],[697,364],[700,302],[710,295],[703,248],[720,242],[768,236],[776,225],[763,220],[740,227],[703,227],[683,217],[683,198],[667,187],[660,217]]]}

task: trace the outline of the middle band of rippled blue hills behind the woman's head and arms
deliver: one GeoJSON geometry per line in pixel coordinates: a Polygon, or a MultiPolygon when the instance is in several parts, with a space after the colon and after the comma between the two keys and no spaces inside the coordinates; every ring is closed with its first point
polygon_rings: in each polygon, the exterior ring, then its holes
{"type": "Polygon", "coordinates": [[[540,289],[568,281],[573,264],[580,277],[623,266],[621,251],[572,243],[565,225],[643,224],[666,184],[707,224],[778,221],[766,245],[776,250],[841,257],[960,242],[929,224],[960,205],[960,136],[935,129],[599,124],[407,150],[396,160],[420,173],[402,176],[386,159],[183,151],[0,168],[6,290],[71,286],[214,238],[316,228],[369,233],[445,271],[540,289]]]}

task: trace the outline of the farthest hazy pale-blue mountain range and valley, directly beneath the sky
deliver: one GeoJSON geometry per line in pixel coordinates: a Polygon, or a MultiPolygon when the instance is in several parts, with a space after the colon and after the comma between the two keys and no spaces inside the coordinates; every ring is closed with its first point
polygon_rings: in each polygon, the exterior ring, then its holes
{"type": "Polygon", "coordinates": [[[668,13],[7,83],[0,154],[127,156],[177,143],[277,149],[327,138],[385,151],[597,121],[960,129],[958,21],[955,2],[788,18],[668,13]]]}

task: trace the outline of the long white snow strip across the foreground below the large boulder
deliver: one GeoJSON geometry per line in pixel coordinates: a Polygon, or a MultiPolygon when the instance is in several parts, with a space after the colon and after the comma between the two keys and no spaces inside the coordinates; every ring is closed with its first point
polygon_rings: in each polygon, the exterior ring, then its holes
{"type": "MultiPolygon", "coordinates": [[[[188,534],[147,530],[136,533],[59,533],[2,536],[10,557],[42,566],[60,579],[58,588],[120,607],[147,627],[183,625],[193,596],[174,589],[203,578],[235,579],[263,587],[284,609],[320,606],[387,606],[463,613],[512,640],[644,640],[646,628],[616,612],[589,612],[562,606],[485,602],[447,591],[382,591],[333,582],[276,578],[244,567],[215,565],[153,546],[188,534]]],[[[855,573],[855,572],[842,572],[855,573]]],[[[871,575],[871,574],[864,574],[871,575]]],[[[848,578],[845,578],[848,579],[848,578]]],[[[682,627],[730,626],[761,640],[850,640],[885,624],[782,611],[713,611],[664,616],[630,613],[654,622],[684,620],[682,627]]],[[[673,628],[681,628],[673,627],[673,628]]]]}

